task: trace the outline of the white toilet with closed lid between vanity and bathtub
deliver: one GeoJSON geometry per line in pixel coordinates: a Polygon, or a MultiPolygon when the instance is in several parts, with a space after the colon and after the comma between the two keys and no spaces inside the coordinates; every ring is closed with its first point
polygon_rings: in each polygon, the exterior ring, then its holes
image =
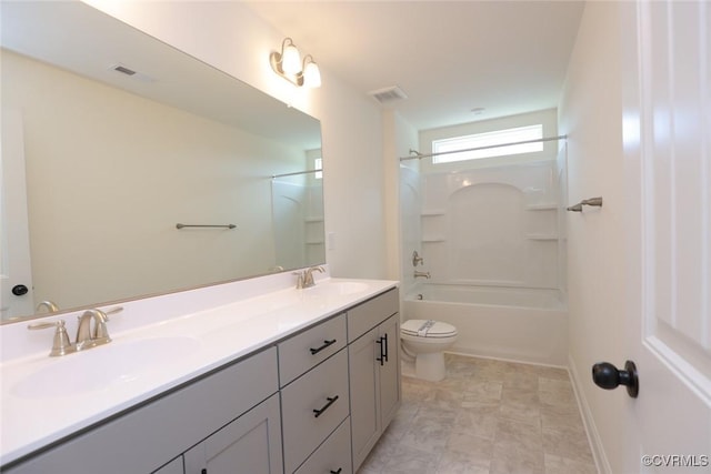
{"type": "Polygon", "coordinates": [[[443,351],[457,341],[457,327],[432,320],[408,320],[400,326],[405,353],[414,356],[414,376],[438,382],[447,375],[443,351]]]}

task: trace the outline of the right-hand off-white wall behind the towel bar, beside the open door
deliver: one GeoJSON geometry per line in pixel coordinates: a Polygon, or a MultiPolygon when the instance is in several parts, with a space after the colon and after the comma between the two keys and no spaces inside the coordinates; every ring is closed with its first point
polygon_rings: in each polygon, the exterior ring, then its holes
{"type": "Polygon", "coordinates": [[[588,2],[559,107],[568,134],[569,204],[603,196],[600,210],[569,212],[570,369],[593,434],[602,472],[624,472],[627,396],[598,389],[592,364],[622,364],[624,329],[624,182],[621,38],[618,2],[588,2]]]}

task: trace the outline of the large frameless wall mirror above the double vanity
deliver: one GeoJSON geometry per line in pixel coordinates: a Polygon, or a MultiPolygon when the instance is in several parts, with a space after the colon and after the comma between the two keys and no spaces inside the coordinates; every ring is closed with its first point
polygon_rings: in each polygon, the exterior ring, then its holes
{"type": "Polygon", "coordinates": [[[317,120],[83,3],[0,8],[3,320],[324,262],[317,120]]]}

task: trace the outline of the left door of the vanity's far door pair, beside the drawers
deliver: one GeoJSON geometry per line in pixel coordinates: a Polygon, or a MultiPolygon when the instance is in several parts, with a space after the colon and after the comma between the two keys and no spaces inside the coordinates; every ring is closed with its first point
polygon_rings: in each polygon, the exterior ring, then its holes
{"type": "Polygon", "coordinates": [[[348,346],[351,384],[351,443],[353,472],[362,464],[380,436],[380,345],[378,329],[348,346]]]}

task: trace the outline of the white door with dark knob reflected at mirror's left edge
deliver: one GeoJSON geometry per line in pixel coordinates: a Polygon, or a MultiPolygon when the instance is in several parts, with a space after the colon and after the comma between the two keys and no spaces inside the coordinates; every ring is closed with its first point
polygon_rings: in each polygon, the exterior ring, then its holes
{"type": "Polygon", "coordinates": [[[0,319],[32,314],[32,272],[22,117],[2,109],[0,153],[0,319]],[[27,291],[26,291],[27,290],[27,291]]]}

